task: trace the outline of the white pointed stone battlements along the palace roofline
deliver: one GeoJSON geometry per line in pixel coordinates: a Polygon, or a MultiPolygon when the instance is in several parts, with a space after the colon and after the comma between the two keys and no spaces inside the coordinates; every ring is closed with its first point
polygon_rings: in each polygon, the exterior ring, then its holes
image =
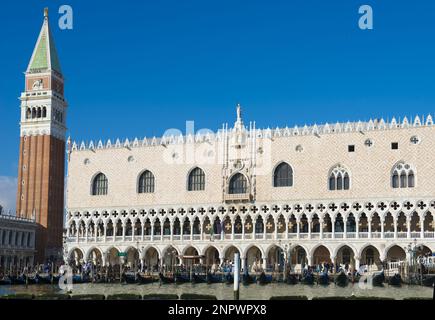
{"type": "MultiPolygon", "coordinates": [[[[249,129],[246,129],[247,137],[256,138],[279,138],[279,137],[291,137],[291,136],[320,136],[326,134],[339,134],[339,133],[349,133],[349,132],[369,132],[369,131],[381,131],[381,130],[395,130],[395,129],[407,129],[407,128],[417,128],[424,126],[433,126],[433,117],[429,114],[426,118],[416,116],[414,119],[408,120],[404,117],[402,120],[396,120],[395,117],[391,121],[385,121],[384,119],[370,119],[368,122],[337,122],[335,124],[325,123],[323,125],[304,125],[303,127],[294,126],[293,128],[267,128],[267,129],[256,129],[255,122],[249,123],[249,129]]],[[[216,133],[198,133],[196,135],[166,135],[161,138],[152,137],[139,140],[134,138],[130,141],[128,138],[121,141],[119,138],[113,143],[110,139],[106,142],[99,140],[98,142],[90,141],[85,143],[84,141],[77,143],[73,141],[70,143],[68,151],[85,151],[91,150],[95,151],[98,149],[114,149],[114,148],[136,148],[136,147],[149,147],[149,146],[167,146],[167,145],[177,145],[185,143],[202,143],[202,142],[215,142],[221,141],[225,136],[231,135],[236,132],[236,128],[228,128],[228,125],[224,125],[222,129],[219,129],[216,133]]]]}

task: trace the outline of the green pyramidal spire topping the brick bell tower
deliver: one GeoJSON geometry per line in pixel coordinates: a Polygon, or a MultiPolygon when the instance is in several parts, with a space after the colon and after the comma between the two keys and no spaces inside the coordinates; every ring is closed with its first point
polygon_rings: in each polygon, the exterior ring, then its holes
{"type": "Polygon", "coordinates": [[[48,24],[48,9],[45,8],[44,22],[35,49],[33,50],[27,72],[46,72],[49,70],[62,73],[56,46],[54,45],[54,39],[48,24]]]}

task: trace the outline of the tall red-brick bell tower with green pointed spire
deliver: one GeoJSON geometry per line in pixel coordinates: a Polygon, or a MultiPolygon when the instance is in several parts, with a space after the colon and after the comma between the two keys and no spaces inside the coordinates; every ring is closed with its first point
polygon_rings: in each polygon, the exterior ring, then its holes
{"type": "Polygon", "coordinates": [[[44,9],[44,21],[21,93],[17,215],[35,219],[35,262],[61,255],[67,103],[64,79],[44,9]]]}

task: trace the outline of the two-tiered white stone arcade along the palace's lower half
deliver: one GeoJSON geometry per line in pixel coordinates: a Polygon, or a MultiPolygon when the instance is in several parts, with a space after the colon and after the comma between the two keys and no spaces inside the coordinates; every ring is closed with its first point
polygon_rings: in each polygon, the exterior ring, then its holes
{"type": "Polygon", "coordinates": [[[274,269],[322,262],[381,267],[407,259],[415,242],[435,250],[435,199],[313,201],[83,210],[68,213],[66,253],[72,263],[168,266],[233,260],[274,269]],[[119,252],[127,256],[119,257],[119,252]]]}

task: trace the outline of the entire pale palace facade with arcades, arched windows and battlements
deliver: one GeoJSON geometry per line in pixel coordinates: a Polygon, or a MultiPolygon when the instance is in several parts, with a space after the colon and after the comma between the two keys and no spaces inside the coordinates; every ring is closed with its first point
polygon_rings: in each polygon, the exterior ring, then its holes
{"type": "Polygon", "coordinates": [[[265,268],[435,250],[432,117],[68,141],[65,259],[265,268]],[[125,253],[125,256],[124,254],[125,253]]]}

